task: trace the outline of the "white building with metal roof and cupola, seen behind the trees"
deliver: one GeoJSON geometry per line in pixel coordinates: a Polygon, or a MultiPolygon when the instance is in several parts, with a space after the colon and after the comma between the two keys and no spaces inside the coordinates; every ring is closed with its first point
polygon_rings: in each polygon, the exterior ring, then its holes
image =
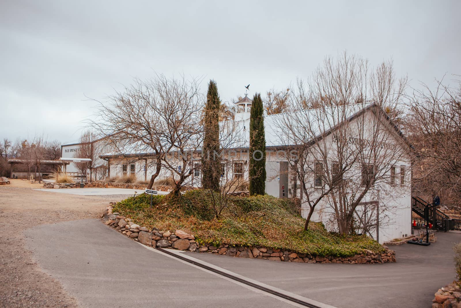
{"type": "MultiPolygon", "coordinates": [[[[236,103],[234,121],[220,123],[221,128],[235,128],[236,134],[232,138],[236,139],[240,149],[235,156],[225,155],[224,160],[227,163],[222,165],[223,176],[248,179],[251,104],[252,101],[248,97],[244,97],[236,103]]],[[[392,160],[391,165],[388,170],[382,171],[386,172],[389,181],[383,180],[374,184],[373,188],[361,198],[354,211],[355,221],[359,221],[359,227],[367,225],[369,228],[364,229],[363,232],[374,239],[378,239],[380,243],[409,235],[411,233],[411,187],[409,185],[411,180],[411,159],[406,154],[408,152],[406,148],[410,145],[408,145],[402,133],[392,124],[389,117],[377,105],[372,103],[352,104],[340,108],[342,108],[344,114],[342,115],[343,118],[339,117],[340,120],[337,119],[337,121],[334,121],[337,116],[337,110],[334,108],[330,111],[325,111],[326,109],[323,109],[323,111],[321,109],[310,109],[265,116],[266,193],[278,198],[301,199],[301,215],[307,217],[310,210],[308,201],[315,199],[322,192],[322,189],[325,189],[325,184],[322,186],[321,183],[322,175],[317,169],[322,170],[323,173],[328,173],[326,169],[330,173],[334,173],[335,157],[338,153],[335,148],[337,142],[334,139],[338,138],[338,136],[335,132],[341,130],[341,127],[345,127],[347,123],[347,131],[344,131],[343,134],[349,138],[349,144],[353,148],[354,145],[370,144],[370,139],[373,138],[370,132],[376,131],[378,127],[384,133],[380,136],[382,141],[375,144],[375,146],[392,149],[397,155],[389,157],[392,160]],[[298,123],[300,131],[294,134],[293,129],[285,129],[283,123],[286,121],[293,121],[295,123],[293,125],[298,123]],[[308,134],[305,133],[306,126],[303,126],[303,123],[309,123],[308,127],[311,129],[312,139],[321,139],[322,146],[328,149],[328,151],[323,152],[326,156],[323,157],[323,163],[320,163],[315,157],[315,151],[312,151],[312,157],[306,158],[303,165],[303,169],[307,170],[304,175],[304,185],[307,187],[305,190],[301,189],[302,182],[296,177],[293,165],[290,164],[286,156],[280,155],[282,153],[280,151],[288,151],[290,145],[296,145],[296,140],[301,135],[305,138],[308,137],[308,134]],[[357,132],[360,132],[360,134],[357,134],[357,132]],[[317,166],[320,167],[317,168],[317,166]],[[306,195],[306,192],[308,192],[308,195],[306,195]],[[372,223],[372,221],[376,221],[376,223],[372,223]]],[[[319,146],[319,144],[313,142],[312,147],[315,146],[319,146]]],[[[77,147],[78,144],[63,145],[63,157],[72,157],[72,153],[76,151],[77,147]]],[[[287,153],[285,152],[284,155],[287,155],[287,153]]],[[[132,145],[132,150],[124,153],[123,156],[107,151],[100,155],[100,158],[107,162],[109,176],[133,174],[139,181],[148,181],[155,172],[154,155],[146,151],[136,151],[135,145],[132,145]]],[[[198,164],[199,162],[191,163],[190,168],[198,167],[198,164]]],[[[350,187],[355,185],[354,190],[351,192],[353,194],[360,192],[361,187],[363,187],[364,177],[367,178],[372,175],[363,174],[363,163],[362,165],[351,166],[344,175],[349,177],[350,187]]],[[[180,167],[177,166],[177,168],[180,167]]],[[[372,171],[372,174],[376,174],[379,172],[379,168],[380,166],[373,165],[368,170],[378,170],[372,171]]],[[[171,176],[172,173],[169,170],[162,168],[156,180],[171,176]]],[[[384,178],[382,177],[382,179],[384,178]]],[[[194,187],[201,186],[200,168],[194,169],[187,184],[194,187]]],[[[337,206],[335,204],[333,193],[327,194],[315,206],[311,220],[323,222],[327,229],[337,231],[338,227],[334,219],[336,217],[335,206],[337,206]]],[[[355,229],[360,232],[360,228],[355,229]]]]}

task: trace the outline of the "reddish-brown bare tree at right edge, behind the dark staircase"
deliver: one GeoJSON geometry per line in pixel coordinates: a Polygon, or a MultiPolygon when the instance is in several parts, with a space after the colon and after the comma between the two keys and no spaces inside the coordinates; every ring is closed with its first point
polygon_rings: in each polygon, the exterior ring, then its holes
{"type": "Polygon", "coordinates": [[[437,80],[435,90],[424,85],[410,98],[405,130],[414,144],[414,192],[445,204],[461,200],[461,81],[437,80]]]}

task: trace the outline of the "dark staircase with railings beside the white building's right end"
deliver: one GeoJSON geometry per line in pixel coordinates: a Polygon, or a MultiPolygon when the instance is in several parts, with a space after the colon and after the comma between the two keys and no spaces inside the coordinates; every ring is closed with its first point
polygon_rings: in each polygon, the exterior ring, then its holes
{"type": "Polygon", "coordinates": [[[419,197],[412,197],[411,209],[421,218],[425,218],[425,210],[428,208],[428,222],[432,224],[432,229],[447,232],[449,230],[461,230],[461,219],[450,218],[437,208],[431,208],[431,204],[419,197]]]}

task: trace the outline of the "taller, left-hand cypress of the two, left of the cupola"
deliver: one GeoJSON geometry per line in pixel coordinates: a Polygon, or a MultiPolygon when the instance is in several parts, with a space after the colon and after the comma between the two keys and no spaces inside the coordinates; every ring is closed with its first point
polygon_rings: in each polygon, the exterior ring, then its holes
{"type": "Polygon", "coordinates": [[[205,189],[219,189],[221,176],[221,162],[219,157],[214,157],[213,151],[219,153],[219,99],[218,87],[214,80],[208,84],[207,103],[205,105],[202,157],[202,187],[205,189]],[[216,158],[216,159],[214,159],[216,158]]]}

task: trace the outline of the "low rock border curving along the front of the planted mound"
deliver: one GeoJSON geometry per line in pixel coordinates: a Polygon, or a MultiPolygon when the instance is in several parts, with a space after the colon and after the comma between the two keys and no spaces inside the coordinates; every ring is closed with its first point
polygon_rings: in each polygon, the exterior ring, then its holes
{"type": "Polygon", "coordinates": [[[178,250],[189,250],[197,253],[222,254],[239,258],[256,258],[273,261],[285,262],[304,262],[304,263],[389,263],[396,262],[396,254],[393,250],[386,248],[382,254],[374,254],[371,250],[364,249],[362,254],[349,257],[335,256],[313,256],[300,254],[293,251],[281,250],[279,248],[266,248],[261,246],[246,247],[233,245],[213,246],[211,243],[199,245],[195,242],[195,236],[183,230],[160,231],[157,228],[149,230],[146,227],[133,223],[131,218],[121,216],[119,213],[112,213],[113,202],[103,211],[102,221],[118,232],[129,236],[131,239],[141,242],[149,247],[173,248],[178,250]]]}

